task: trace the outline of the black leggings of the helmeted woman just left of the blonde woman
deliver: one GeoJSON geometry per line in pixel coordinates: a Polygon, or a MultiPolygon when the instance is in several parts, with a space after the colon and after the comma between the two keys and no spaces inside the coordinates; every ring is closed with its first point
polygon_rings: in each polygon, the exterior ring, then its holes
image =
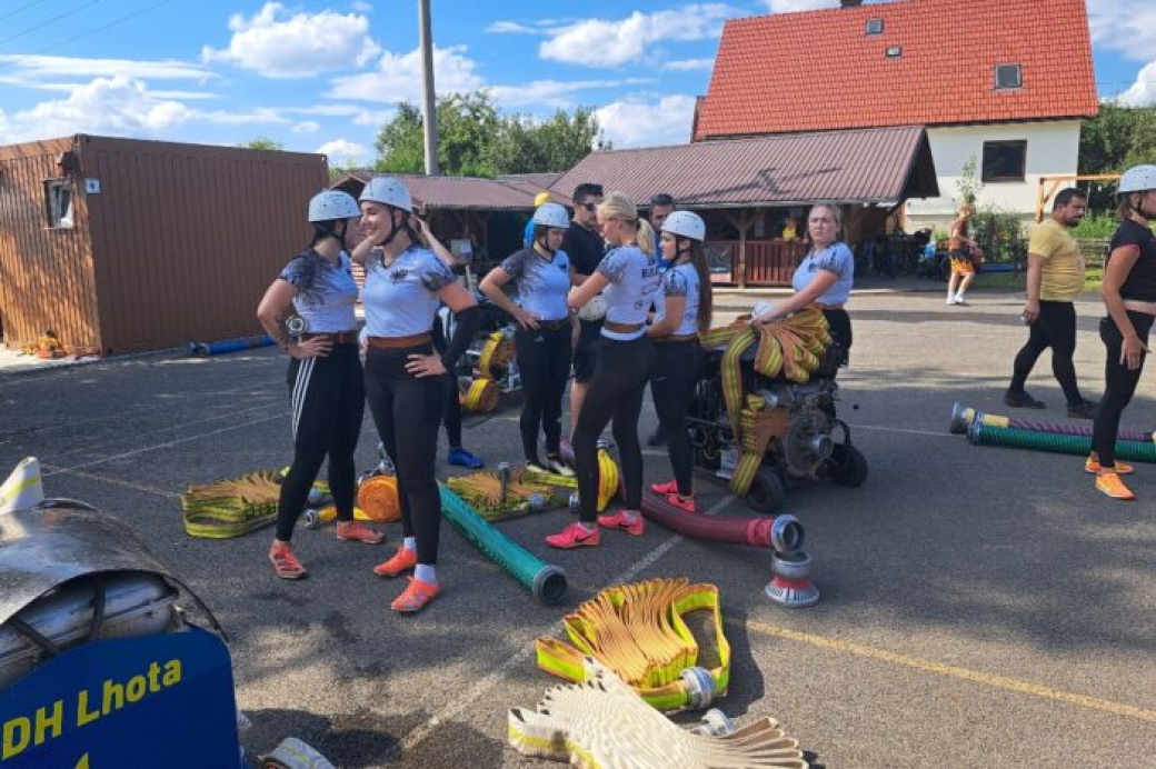
{"type": "Polygon", "coordinates": [[[538,459],[538,428],[546,434],[546,453],[558,453],[562,437],[562,397],[570,378],[570,324],[538,331],[518,328],[513,337],[525,402],[519,428],[526,461],[538,459]]]}

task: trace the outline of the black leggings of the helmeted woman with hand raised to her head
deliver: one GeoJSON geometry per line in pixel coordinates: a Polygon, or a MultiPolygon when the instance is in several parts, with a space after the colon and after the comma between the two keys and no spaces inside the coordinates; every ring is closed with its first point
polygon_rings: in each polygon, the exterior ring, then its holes
{"type": "Polygon", "coordinates": [[[417,378],[406,371],[406,362],[410,355],[432,350],[430,343],[401,349],[370,346],[365,357],[370,414],[398,471],[402,531],[417,539],[417,562],[424,565],[437,563],[442,528],[433,463],[449,377],[417,378]]]}

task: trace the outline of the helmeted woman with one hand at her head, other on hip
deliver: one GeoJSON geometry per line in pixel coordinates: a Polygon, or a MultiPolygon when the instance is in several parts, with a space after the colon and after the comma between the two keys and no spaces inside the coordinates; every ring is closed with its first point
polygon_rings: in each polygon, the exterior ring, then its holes
{"type": "Polygon", "coordinates": [[[437,436],[449,377],[466,352],[481,315],[474,297],[414,230],[413,198],[397,179],[373,177],[361,194],[365,239],[354,260],[365,265],[365,395],[373,423],[398,472],[398,501],[405,540],[373,571],[397,577],[410,569],[406,591],[391,604],[421,611],[439,590],[437,578],[442,502],[433,475],[437,436]],[[453,338],[433,350],[439,303],[454,313],[453,338]]]}

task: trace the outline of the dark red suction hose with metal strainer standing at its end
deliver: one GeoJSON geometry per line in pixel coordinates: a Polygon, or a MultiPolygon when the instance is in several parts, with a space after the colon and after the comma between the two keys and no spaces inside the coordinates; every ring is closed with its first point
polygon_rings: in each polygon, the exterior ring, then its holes
{"type": "Polygon", "coordinates": [[[763,590],[766,597],[786,608],[818,602],[818,589],[810,581],[810,556],[802,552],[802,524],[794,516],[703,516],[676,508],[652,491],[643,493],[643,515],[683,537],[770,549],[771,581],[763,590]]]}

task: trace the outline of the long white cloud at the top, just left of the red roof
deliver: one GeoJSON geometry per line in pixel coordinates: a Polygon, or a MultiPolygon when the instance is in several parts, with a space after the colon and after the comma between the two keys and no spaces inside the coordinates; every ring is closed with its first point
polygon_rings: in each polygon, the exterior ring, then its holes
{"type": "Polygon", "coordinates": [[[722,3],[706,3],[652,14],[636,10],[621,21],[588,19],[550,32],[539,54],[590,67],[617,67],[645,58],[660,43],[717,37],[733,14],[722,3]]]}

